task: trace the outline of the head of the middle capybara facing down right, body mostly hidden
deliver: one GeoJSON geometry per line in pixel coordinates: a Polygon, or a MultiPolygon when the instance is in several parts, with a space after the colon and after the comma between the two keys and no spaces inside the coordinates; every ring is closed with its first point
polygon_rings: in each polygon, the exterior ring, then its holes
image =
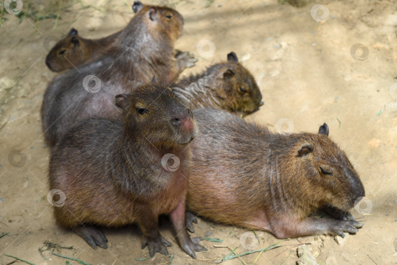
{"type": "Polygon", "coordinates": [[[232,112],[252,113],[263,105],[262,94],[252,74],[238,63],[236,53],[227,54],[222,76],[224,96],[230,104],[224,106],[232,112]]]}

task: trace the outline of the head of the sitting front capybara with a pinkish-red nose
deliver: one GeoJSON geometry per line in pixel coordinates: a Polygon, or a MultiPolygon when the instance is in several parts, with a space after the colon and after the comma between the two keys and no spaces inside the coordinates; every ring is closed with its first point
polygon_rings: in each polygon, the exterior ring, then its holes
{"type": "Polygon", "coordinates": [[[117,95],[116,105],[126,111],[124,133],[139,131],[152,145],[184,145],[198,134],[193,112],[155,78],[130,94],[117,95]]]}

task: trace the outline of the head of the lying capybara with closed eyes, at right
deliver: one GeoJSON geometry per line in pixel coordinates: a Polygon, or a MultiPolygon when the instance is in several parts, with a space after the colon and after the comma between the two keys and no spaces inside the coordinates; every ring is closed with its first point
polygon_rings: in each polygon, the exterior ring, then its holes
{"type": "Polygon", "coordinates": [[[319,134],[298,134],[300,139],[293,145],[294,154],[290,155],[296,163],[298,186],[302,187],[307,201],[315,198],[313,203],[319,207],[332,206],[347,211],[357,198],[365,196],[365,191],[345,152],[329,139],[328,132],[328,125],[324,123],[319,134]]]}

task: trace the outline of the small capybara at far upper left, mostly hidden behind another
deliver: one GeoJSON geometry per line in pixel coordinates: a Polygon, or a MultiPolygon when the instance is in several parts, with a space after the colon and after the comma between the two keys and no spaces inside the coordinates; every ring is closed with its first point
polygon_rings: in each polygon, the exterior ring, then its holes
{"type": "Polygon", "coordinates": [[[52,72],[61,72],[87,63],[111,48],[120,32],[91,40],[80,37],[72,28],[47,54],[46,65],[52,72]]]}

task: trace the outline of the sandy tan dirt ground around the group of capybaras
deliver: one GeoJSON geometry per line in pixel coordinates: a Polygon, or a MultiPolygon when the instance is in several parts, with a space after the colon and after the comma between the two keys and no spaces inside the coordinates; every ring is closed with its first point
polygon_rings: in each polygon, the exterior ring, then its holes
{"type": "MultiPolygon", "coordinates": [[[[29,4],[44,10],[49,2],[29,4]]],[[[182,0],[176,5],[185,25],[175,48],[199,58],[197,66],[182,75],[200,72],[225,60],[230,51],[236,52],[255,76],[265,101],[247,119],[274,131],[313,133],[326,122],[330,137],[347,151],[360,174],[367,197],[358,211],[352,209],[353,216],[365,223],[356,235],[343,240],[331,236],[291,239],[258,259],[257,252],[223,264],[253,264],[257,259],[256,264],[293,265],[302,243],[309,244],[322,265],[397,264],[397,2],[328,0],[321,2],[325,7],[317,16],[311,10],[319,2],[301,8],[277,0],[215,0],[205,7],[207,2],[182,0]],[[211,41],[215,51],[206,47],[200,55],[201,40],[211,41]],[[290,121],[276,126],[283,118],[290,121]]],[[[27,1],[23,4],[25,8],[27,1]]],[[[64,1],[63,6],[69,6],[62,9],[56,29],[54,19],[36,23],[24,18],[19,24],[17,16],[4,13],[6,20],[0,27],[0,235],[8,234],[0,238],[0,264],[15,260],[5,254],[36,265],[65,264],[65,259],[49,251],[43,252],[46,260],[40,256],[38,248],[44,241],[74,246],[74,250],[54,252],[92,265],[165,265],[170,261],[170,256],[158,253],[145,261],[134,260],[149,257],[147,248],[140,247],[141,232],[134,225],[104,229],[108,249],[92,249],[56,225],[46,198],[49,148],[43,142],[39,110],[47,84],[57,73],[44,63],[48,52],[44,40],[61,37],[72,25],[88,38],[106,36],[128,23],[133,16],[131,4],[64,1]]],[[[56,13],[57,6],[52,9],[56,13]]],[[[172,241],[174,231],[167,219],[160,229],[172,241]]],[[[209,251],[193,260],[173,241],[169,248],[174,254],[172,264],[220,263],[236,247],[236,253],[244,253],[248,246],[240,238],[247,232],[199,218],[194,236],[223,242],[202,241],[209,251]]],[[[256,234],[259,242],[254,237],[249,242],[253,250],[280,241],[264,231],[256,234]]]]}

